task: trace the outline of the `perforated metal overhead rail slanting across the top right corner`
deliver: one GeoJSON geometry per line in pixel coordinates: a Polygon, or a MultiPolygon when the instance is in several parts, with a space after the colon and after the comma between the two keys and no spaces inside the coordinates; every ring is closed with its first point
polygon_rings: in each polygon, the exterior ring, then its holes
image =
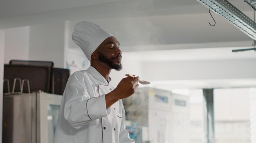
{"type": "MultiPolygon", "coordinates": [[[[238,10],[234,5],[227,0],[197,0],[204,6],[224,17],[231,24],[243,31],[246,35],[256,40],[256,23],[247,17],[244,13],[238,10]]],[[[256,6],[255,0],[246,0],[256,6]]],[[[248,3],[249,4],[249,3],[248,3]]]]}

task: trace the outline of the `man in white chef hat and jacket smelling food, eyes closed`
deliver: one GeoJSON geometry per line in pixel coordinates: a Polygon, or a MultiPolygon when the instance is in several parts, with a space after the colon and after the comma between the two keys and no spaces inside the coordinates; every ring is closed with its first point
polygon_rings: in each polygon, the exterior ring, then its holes
{"type": "Polygon", "coordinates": [[[139,77],[123,78],[110,85],[112,69],[122,69],[122,52],[117,39],[100,26],[79,22],[72,34],[91,63],[74,72],[67,81],[54,143],[134,143],[125,130],[123,98],[139,87],[139,77]]]}

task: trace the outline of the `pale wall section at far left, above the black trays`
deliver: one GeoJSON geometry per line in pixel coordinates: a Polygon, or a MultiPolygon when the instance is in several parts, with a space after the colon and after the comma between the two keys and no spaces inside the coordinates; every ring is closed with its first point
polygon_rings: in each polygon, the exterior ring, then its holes
{"type": "Polygon", "coordinates": [[[29,26],[5,30],[4,63],[29,59],[29,26]]]}

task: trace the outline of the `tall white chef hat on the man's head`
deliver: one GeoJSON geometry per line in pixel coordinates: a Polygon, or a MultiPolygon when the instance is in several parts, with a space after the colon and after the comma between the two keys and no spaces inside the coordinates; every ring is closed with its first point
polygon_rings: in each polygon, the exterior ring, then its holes
{"type": "Polygon", "coordinates": [[[105,39],[112,36],[99,25],[82,21],[76,24],[72,40],[79,45],[85,56],[91,61],[92,53],[105,39]]]}

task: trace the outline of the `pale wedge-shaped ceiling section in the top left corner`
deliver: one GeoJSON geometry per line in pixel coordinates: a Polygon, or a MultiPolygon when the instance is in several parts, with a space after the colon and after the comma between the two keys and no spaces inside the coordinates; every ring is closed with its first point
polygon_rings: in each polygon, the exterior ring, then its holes
{"type": "Polygon", "coordinates": [[[59,11],[122,0],[1,0],[0,18],[59,11]]]}

